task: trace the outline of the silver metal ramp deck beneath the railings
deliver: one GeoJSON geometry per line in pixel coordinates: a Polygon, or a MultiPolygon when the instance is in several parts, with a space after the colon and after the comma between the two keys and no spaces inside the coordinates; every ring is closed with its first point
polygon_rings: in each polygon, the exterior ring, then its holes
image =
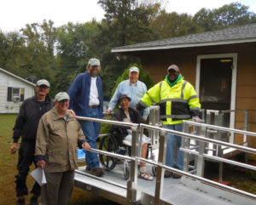
{"type": "MultiPolygon", "coordinates": [[[[126,184],[128,181],[123,179],[122,165],[118,165],[113,171],[105,171],[103,178],[95,179],[91,178],[91,175],[88,174],[85,170],[85,167],[79,167],[75,174],[75,186],[83,189],[85,191],[91,191],[98,196],[102,196],[112,200],[113,202],[119,202],[120,204],[127,204],[126,198],[126,184]],[[88,174],[88,175],[84,175],[88,174]],[[106,180],[106,181],[102,181],[106,180]],[[111,185],[110,183],[116,183],[118,185],[124,186],[124,188],[111,185]]],[[[148,166],[148,170],[150,166],[148,166]]],[[[161,204],[179,204],[179,205],[230,205],[230,204],[239,204],[236,202],[231,202],[230,199],[218,196],[218,191],[215,187],[210,185],[208,186],[207,191],[202,191],[195,185],[191,185],[191,179],[183,177],[182,179],[165,179],[163,186],[163,193],[161,198],[161,204]],[[212,191],[214,195],[212,195],[212,191]]],[[[195,183],[195,181],[194,181],[195,183]]],[[[192,184],[194,184],[192,183],[192,184]]],[[[198,183],[198,182],[197,182],[198,183]]],[[[137,181],[137,203],[138,204],[154,204],[154,181],[146,181],[143,179],[138,179],[137,181]]],[[[204,187],[204,189],[206,189],[204,187]]],[[[229,191],[226,191],[225,195],[230,195],[229,191]]],[[[236,198],[236,200],[238,200],[236,198]]],[[[243,205],[246,204],[255,204],[255,201],[251,202],[242,201],[243,205]]]]}

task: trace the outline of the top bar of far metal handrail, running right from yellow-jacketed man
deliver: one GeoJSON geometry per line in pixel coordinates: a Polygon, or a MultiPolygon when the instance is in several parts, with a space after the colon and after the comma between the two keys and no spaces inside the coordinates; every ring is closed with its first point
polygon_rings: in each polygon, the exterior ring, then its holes
{"type": "Polygon", "coordinates": [[[231,132],[231,133],[236,133],[236,134],[247,134],[247,135],[256,137],[256,133],[249,132],[249,131],[244,131],[244,130],[236,129],[236,128],[224,128],[224,127],[217,126],[217,125],[200,123],[200,122],[193,122],[193,121],[183,121],[183,123],[187,123],[187,124],[195,125],[195,126],[204,126],[206,128],[218,129],[218,130],[221,130],[221,131],[224,131],[224,132],[231,132]]]}

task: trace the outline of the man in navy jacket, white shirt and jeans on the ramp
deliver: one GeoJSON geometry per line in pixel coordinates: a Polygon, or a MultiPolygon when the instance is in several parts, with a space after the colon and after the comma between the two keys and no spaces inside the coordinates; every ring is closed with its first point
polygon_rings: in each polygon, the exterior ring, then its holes
{"type": "MultiPolygon", "coordinates": [[[[103,92],[101,77],[97,74],[101,70],[100,60],[90,59],[87,65],[87,71],[79,74],[70,88],[69,107],[78,116],[102,118],[103,112],[103,92]]],[[[83,129],[86,141],[91,148],[96,149],[96,140],[100,134],[101,123],[79,120],[83,129]]],[[[91,174],[102,177],[104,174],[99,165],[99,159],[95,152],[85,151],[86,170],[91,174]]]]}

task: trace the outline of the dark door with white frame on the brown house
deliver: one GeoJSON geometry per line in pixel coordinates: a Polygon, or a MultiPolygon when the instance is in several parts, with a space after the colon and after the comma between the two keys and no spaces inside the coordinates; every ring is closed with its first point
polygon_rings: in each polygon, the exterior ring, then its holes
{"type": "MultiPolygon", "coordinates": [[[[202,108],[231,110],[225,112],[225,127],[235,127],[237,54],[203,54],[197,56],[195,89],[202,108]]],[[[226,139],[228,140],[228,139],[226,139]]],[[[230,143],[234,135],[229,137],[230,143]]]]}

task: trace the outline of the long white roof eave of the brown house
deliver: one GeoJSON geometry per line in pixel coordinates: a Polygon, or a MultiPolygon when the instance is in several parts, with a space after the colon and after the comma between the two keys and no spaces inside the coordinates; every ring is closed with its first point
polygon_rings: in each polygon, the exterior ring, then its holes
{"type": "Polygon", "coordinates": [[[224,40],[224,41],[218,41],[218,42],[206,42],[206,43],[184,43],[184,44],[176,44],[176,45],[140,47],[140,48],[113,48],[111,52],[125,53],[125,52],[132,52],[132,51],[148,51],[148,50],[160,50],[160,49],[172,49],[172,48],[191,48],[191,47],[217,46],[217,45],[252,43],[252,42],[256,42],[256,37],[236,39],[236,40],[224,40]]]}

